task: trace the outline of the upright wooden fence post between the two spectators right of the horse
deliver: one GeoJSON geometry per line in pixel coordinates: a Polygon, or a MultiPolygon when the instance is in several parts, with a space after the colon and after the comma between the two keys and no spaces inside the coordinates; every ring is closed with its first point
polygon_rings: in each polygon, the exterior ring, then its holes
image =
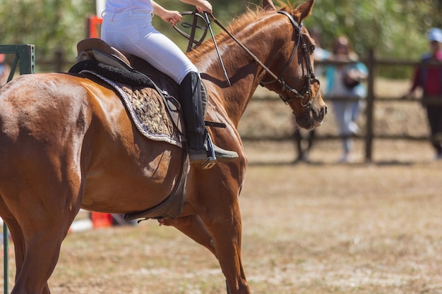
{"type": "Polygon", "coordinates": [[[367,97],[366,97],[366,140],[365,140],[365,161],[371,161],[373,153],[373,116],[374,116],[374,49],[369,49],[367,60],[367,68],[369,76],[367,80],[367,97]]]}

